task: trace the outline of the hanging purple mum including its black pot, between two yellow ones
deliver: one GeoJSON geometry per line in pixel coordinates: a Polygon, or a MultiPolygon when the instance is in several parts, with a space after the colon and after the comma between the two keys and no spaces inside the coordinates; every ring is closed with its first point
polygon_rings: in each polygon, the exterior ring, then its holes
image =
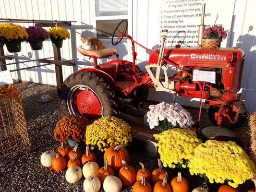
{"type": "Polygon", "coordinates": [[[29,26],[26,28],[28,33],[27,42],[29,42],[32,50],[41,50],[43,48],[43,41],[49,38],[47,31],[42,27],[29,26]]]}

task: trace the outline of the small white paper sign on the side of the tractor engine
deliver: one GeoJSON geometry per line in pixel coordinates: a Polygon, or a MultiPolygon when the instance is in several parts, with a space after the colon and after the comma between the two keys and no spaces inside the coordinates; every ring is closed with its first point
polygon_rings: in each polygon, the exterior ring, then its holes
{"type": "Polygon", "coordinates": [[[193,80],[216,84],[216,72],[193,70],[193,80]]]}

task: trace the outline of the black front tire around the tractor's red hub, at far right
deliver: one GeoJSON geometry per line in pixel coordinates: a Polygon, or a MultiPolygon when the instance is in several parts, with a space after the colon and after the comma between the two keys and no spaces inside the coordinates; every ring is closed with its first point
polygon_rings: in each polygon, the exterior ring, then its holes
{"type": "MultiPolygon", "coordinates": [[[[233,105],[238,106],[237,103],[234,103],[233,105]]],[[[212,122],[212,124],[217,125],[217,121],[215,120],[215,117],[214,117],[215,112],[216,112],[216,108],[214,108],[213,106],[210,106],[209,109],[208,109],[209,119],[212,122]]],[[[239,128],[244,123],[244,121],[246,120],[246,114],[247,114],[246,108],[244,106],[244,103],[242,103],[241,108],[239,110],[237,122],[231,123],[229,120],[225,120],[221,124],[221,126],[227,127],[229,129],[239,128]]]]}

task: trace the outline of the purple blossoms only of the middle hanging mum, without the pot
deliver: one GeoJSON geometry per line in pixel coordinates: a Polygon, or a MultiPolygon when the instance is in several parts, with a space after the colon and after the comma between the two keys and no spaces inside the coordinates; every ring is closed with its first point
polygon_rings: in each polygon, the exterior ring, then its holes
{"type": "Polygon", "coordinates": [[[49,38],[49,34],[42,27],[29,26],[28,28],[26,28],[26,32],[28,33],[28,42],[32,42],[35,39],[44,41],[45,39],[49,38]]]}

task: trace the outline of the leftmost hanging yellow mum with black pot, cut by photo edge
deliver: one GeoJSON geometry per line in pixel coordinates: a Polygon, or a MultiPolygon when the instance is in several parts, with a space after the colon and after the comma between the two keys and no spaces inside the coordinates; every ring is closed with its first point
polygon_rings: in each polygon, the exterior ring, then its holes
{"type": "Polygon", "coordinates": [[[27,40],[26,30],[18,24],[0,24],[0,41],[6,45],[9,52],[20,52],[21,42],[27,40]]]}

